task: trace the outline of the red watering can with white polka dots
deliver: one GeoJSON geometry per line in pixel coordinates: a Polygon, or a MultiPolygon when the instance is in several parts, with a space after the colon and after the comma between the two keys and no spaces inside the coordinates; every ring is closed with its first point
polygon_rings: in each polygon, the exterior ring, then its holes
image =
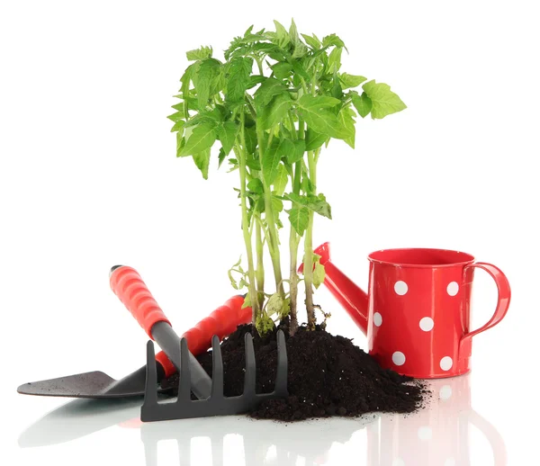
{"type": "Polygon", "coordinates": [[[367,335],[369,353],[384,368],[411,377],[435,379],[469,372],[473,336],[497,325],[509,309],[510,285],[504,273],[463,252],[376,251],[368,256],[367,293],[332,262],[329,243],[315,254],[325,267],[324,284],[367,335]],[[475,268],[491,275],[499,299],[490,321],[470,331],[475,268]]]}

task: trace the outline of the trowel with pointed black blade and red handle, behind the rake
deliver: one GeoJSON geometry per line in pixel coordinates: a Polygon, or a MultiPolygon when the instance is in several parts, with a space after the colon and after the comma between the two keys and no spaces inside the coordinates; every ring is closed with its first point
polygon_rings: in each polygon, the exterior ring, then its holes
{"type": "MultiPolygon", "coordinates": [[[[114,273],[117,269],[124,269],[121,276],[127,277],[130,267],[113,267],[111,271],[111,282],[115,287],[121,278],[120,272],[114,273]]],[[[135,271],[133,271],[136,273],[135,271]]],[[[137,274],[138,276],[138,274],[137,274]]],[[[136,277],[135,277],[136,278],[136,277]]],[[[140,277],[139,277],[140,278],[140,277]]],[[[146,286],[145,286],[146,289],[146,286]]],[[[133,290],[131,290],[132,292],[133,290]]],[[[147,290],[148,292],[148,290],[147,290]]],[[[139,296],[139,299],[142,296],[139,296]]],[[[153,300],[151,295],[146,295],[146,299],[153,300]]],[[[155,301],[154,301],[155,302],[155,301]]],[[[202,319],[195,327],[184,333],[189,349],[193,354],[201,354],[211,345],[211,336],[217,335],[220,338],[232,333],[240,324],[251,321],[251,308],[241,309],[244,303],[243,296],[234,296],[227,300],[223,306],[215,309],[210,316],[202,319]]],[[[165,327],[166,321],[159,327],[165,327]]],[[[153,328],[153,327],[152,327],[153,328]]],[[[167,330],[156,330],[157,334],[170,334],[167,330]]],[[[157,379],[161,381],[164,377],[169,377],[176,372],[175,366],[169,361],[164,352],[156,355],[154,363],[157,372],[157,379]]],[[[141,396],[144,394],[146,381],[146,365],[137,371],[130,373],[123,379],[116,381],[103,372],[85,372],[67,377],[59,377],[47,381],[35,381],[21,385],[17,391],[26,395],[40,395],[47,397],[68,397],[85,399],[111,399],[141,396]]],[[[209,383],[207,388],[209,388],[209,383]]],[[[165,391],[158,389],[159,391],[165,391]]]]}

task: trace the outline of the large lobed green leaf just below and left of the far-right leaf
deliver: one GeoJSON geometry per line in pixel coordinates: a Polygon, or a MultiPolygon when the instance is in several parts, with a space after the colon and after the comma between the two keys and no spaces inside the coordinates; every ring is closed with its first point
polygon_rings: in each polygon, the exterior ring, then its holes
{"type": "Polygon", "coordinates": [[[345,128],[338,117],[329,112],[328,108],[336,106],[340,101],[334,97],[302,95],[298,101],[300,114],[311,130],[326,134],[332,138],[347,139],[351,133],[345,128]]]}

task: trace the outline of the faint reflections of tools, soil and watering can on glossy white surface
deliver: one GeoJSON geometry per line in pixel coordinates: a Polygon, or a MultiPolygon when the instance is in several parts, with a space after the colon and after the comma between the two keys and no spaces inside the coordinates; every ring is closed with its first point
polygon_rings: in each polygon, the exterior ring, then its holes
{"type": "Polygon", "coordinates": [[[121,426],[139,430],[146,466],[171,463],[170,455],[166,462],[158,461],[162,449],[171,446],[170,441],[175,445],[179,466],[199,465],[203,459],[214,466],[347,462],[368,466],[466,466],[471,463],[469,431],[474,426],[491,445],[492,457],[486,457],[485,463],[494,458],[496,466],[504,466],[507,455],[503,439],[471,407],[469,382],[469,375],[429,382],[433,397],[428,408],[414,415],[372,415],[287,425],[246,417],[142,424],[140,399],[76,400],[26,429],[19,444],[35,447],[66,443],[110,426],[121,426]],[[336,451],[341,453],[339,462],[335,462],[336,451]],[[230,462],[233,457],[235,461],[230,462]]]}

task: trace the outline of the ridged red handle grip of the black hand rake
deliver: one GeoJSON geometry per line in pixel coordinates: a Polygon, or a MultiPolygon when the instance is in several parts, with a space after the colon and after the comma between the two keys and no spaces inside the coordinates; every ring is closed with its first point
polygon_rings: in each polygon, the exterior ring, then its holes
{"type": "Polygon", "coordinates": [[[109,282],[114,294],[123,302],[150,338],[152,338],[152,327],[157,322],[166,322],[171,325],[135,269],[127,265],[112,267],[109,282]]]}

